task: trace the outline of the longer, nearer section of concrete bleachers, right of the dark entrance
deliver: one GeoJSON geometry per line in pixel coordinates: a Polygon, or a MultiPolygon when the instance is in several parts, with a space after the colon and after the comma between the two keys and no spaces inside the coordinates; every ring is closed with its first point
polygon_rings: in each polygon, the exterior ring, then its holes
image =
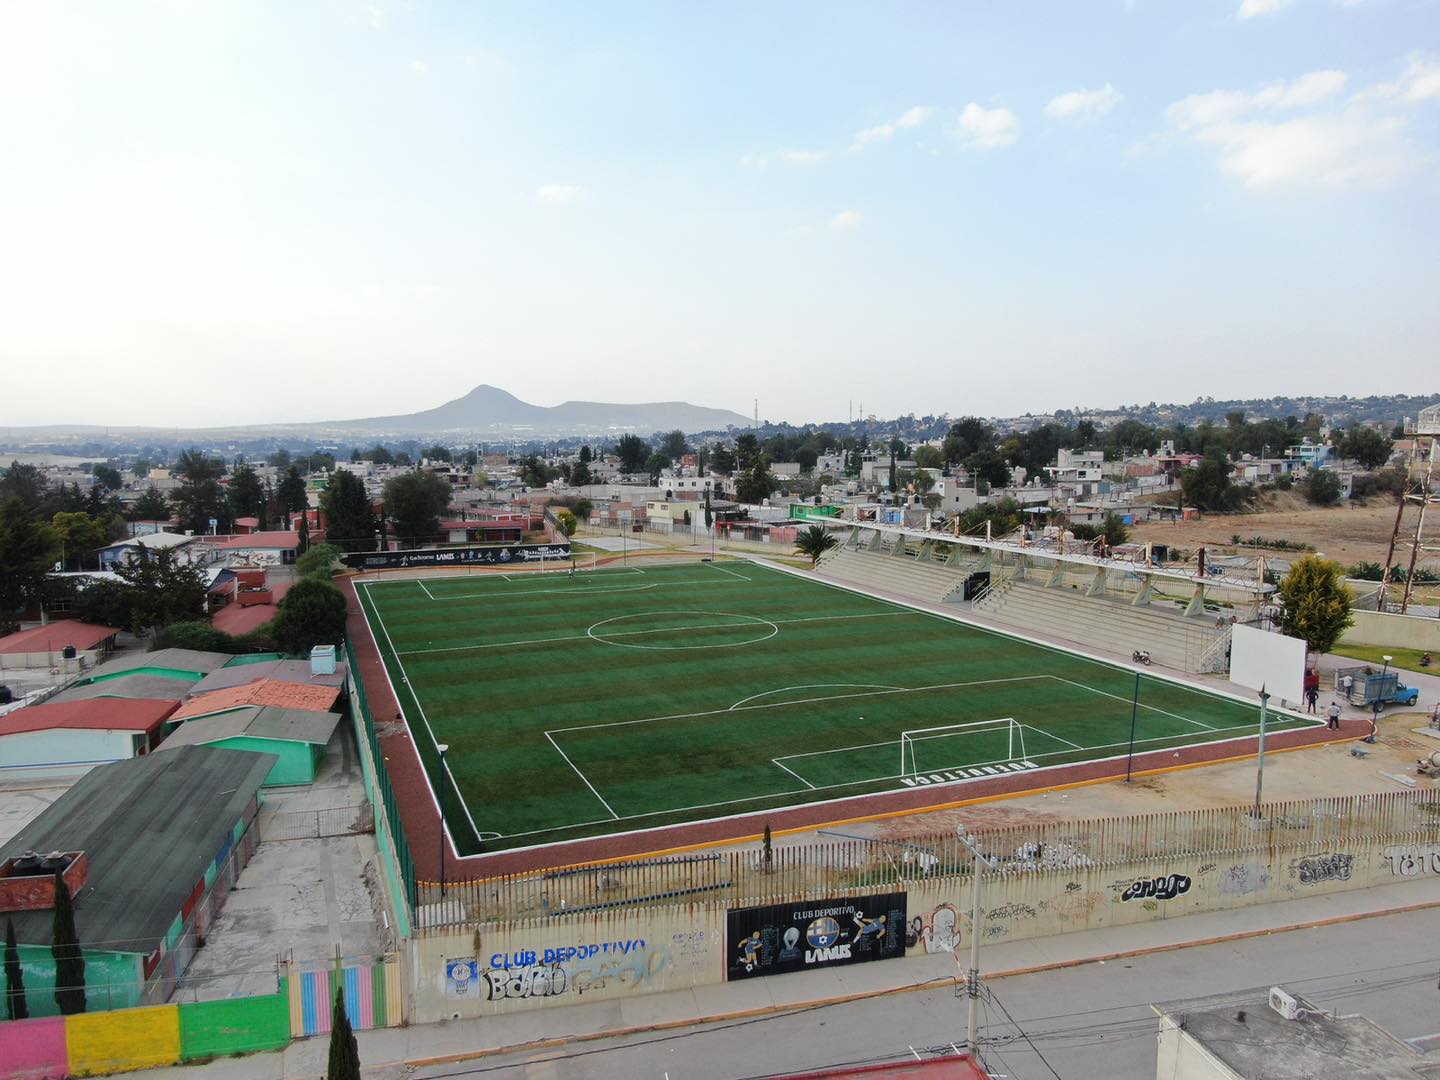
{"type": "Polygon", "coordinates": [[[1129,657],[1145,649],[1164,667],[1215,671],[1224,662],[1228,628],[1215,618],[1187,616],[1179,609],[1133,606],[1125,600],[1087,596],[1070,586],[1040,582],[998,582],[973,605],[978,613],[1017,629],[1073,641],[1102,652],[1129,657]]]}

